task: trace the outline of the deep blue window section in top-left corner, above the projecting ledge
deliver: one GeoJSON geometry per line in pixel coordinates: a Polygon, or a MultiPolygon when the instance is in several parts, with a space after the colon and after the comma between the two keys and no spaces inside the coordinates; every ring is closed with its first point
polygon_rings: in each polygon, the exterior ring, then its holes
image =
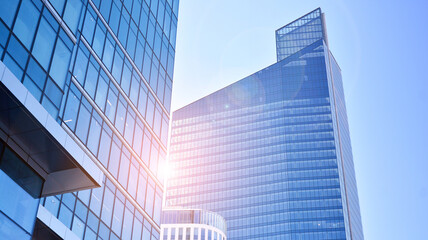
{"type": "MultiPolygon", "coordinates": [[[[31,0],[19,2],[7,1],[10,9],[2,7],[0,11],[0,57],[56,118],[73,42],[43,3],[31,0]],[[13,33],[9,29],[13,29],[13,33]]],[[[66,9],[70,8],[67,5],[66,9]]],[[[70,15],[67,10],[64,14],[70,15]]],[[[67,18],[67,23],[74,24],[74,20],[70,19],[74,18],[67,18]]]]}

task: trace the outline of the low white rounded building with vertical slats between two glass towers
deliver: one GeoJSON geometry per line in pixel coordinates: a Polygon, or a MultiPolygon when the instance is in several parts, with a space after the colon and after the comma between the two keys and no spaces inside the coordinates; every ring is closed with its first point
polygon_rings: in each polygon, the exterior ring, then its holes
{"type": "Polygon", "coordinates": [[[226,240],[226,221],[201,209],[164,209],[162,240],[226,240]]]}

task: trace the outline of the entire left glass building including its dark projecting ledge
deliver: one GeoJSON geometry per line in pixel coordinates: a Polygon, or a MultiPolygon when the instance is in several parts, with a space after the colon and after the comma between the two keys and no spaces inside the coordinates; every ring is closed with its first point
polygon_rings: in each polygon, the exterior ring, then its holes
{"type": "Polygon", "coordinates": [[[159,239],[178,5],[0,0],[0,239],[159,239]]]}

